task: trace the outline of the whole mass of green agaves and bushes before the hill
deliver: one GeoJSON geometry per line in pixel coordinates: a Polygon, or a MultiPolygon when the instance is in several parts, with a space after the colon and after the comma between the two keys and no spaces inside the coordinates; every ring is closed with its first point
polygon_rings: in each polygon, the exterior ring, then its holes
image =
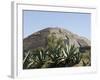
{"type": "Polygon", "coordinates": [[[82,57],[84,56],[75,45],[65,45],[62,39],[49,36],[45,48],[24,52],[23,69],[72,67],[80,61],[83,62],[83,66],[87,66],[89,63],[85,63],[82,57]]]}

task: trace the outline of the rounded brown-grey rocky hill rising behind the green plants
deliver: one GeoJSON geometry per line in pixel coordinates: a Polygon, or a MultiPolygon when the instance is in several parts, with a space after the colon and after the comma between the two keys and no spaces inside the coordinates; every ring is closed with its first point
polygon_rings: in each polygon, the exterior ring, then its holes
{"type": "Polygon", "coordinates": [[[91,42],[87,38],[76,35],[68,30],[61,28],[46,28],[24,38],[23,49],[27,51],[29,49],[45,47],[47,37],[49,35],[54,35],[57,38],[62,38],[66,43],[74,44],[76,47],[91,46],[91,42]]]}

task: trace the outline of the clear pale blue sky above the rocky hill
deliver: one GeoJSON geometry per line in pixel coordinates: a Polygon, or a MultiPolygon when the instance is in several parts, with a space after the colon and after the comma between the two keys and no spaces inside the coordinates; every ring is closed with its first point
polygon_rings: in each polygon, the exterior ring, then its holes
{"type": "Polygon", "coordinates": [[[91,14],[77,12],[23,11],[23,38],[47,27],[60,27],[90,39],[91,14]]]}

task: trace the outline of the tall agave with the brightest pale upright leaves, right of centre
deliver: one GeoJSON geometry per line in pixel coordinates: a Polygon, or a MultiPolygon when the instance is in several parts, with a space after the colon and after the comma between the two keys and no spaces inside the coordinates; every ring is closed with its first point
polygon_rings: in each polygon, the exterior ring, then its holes
{"type": "Polygon", "coordinates": [[[79,48],[75,47],[75,45],[67,45],[64,50],[67,55],[66,66],[73,66],[80,62],[81,53],[79,52],[79,48]]]}

